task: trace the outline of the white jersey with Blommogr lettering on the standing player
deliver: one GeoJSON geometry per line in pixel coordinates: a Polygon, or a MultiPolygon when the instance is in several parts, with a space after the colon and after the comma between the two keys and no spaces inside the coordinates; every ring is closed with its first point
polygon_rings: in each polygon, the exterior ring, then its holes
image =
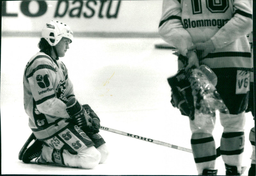
{"type": "Polygon", "coordinates": [[[251,69],[251,31],[251,0],[163,0],[161,37],[184,56],[188,47],[212,39],[215,51],[199,62],[210,68],[251,69]]]}

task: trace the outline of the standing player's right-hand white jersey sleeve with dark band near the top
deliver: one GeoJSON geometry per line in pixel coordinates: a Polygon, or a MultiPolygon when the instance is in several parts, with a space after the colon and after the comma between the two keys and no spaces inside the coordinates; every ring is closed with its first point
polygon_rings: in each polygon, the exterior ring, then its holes
{"type": "Polygon", "coordinates": [[[252,1],[234,0],[233,15],[211,38],[215,48],[223,48],[252,31],[252,1]]]}

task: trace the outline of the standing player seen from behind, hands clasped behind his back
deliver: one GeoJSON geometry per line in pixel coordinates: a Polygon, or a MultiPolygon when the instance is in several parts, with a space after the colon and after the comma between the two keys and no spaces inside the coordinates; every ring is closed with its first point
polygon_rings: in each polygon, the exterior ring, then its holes
{"type": "MultiPolygon", "coordinates": [[[[183,58],[187,59],[185,70],[206,65],[217,75],[216,89],[229,110],[229,114],[220,113],[224,128],[220,153],[226,175],[240,175],[252,66],[246,38],[252,31],[252,1],[164,0],[162,10],[159,34],[179,50],[179,68],[183,58]]],[[[198,174],[216,175],[214,123],[198,128],[196,119],[189,118],[189,123],[198,174]]]]}

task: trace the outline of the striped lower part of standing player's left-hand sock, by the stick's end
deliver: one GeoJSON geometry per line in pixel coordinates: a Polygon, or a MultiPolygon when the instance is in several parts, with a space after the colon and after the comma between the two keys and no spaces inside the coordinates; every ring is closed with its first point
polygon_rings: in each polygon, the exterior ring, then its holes
{"type": "Polygon", "coordinates": [[[199,174],[204,169],[214,169],[216,160],[215,141],[212,136],[200,139],[191,139],[191,147],[199,174]],[[204,150],[202,150],[204,149],[204,150]]]}

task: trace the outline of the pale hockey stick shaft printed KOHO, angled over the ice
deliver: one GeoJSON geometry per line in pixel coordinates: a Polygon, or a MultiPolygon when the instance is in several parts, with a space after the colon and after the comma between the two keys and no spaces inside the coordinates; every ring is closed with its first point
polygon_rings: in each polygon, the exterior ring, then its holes
{"type": "Polygon", "coordinates": [[[151,142],[151,143],[158,144],[158,145],[163,145],[163,146],[170,147],[170,148],[173,148],[173,149],[187,151],[187,152],[192,153],[191,149],[180,147],[180,146],[177,146],[177,145],[168,144],[166,142],[157,141],[157,140],[149,139],[149,138],[146,138],[146,137],[140,137],[138,135],[133,135],[133,134],[130,134],[130,133],[126,133],[126,132],[123,132],[123,131],[115,130],[115,129],[104,127],[104,126],[100,126],[100,129],[105,130],[105,131],[110,131],[110,132],[113,132],[113,133],[117,133],[117,134],[121,134],[121,135],[128,136],[128,137],[134,137],[136,139],[140,139],[140,140],[151,142]]]}

